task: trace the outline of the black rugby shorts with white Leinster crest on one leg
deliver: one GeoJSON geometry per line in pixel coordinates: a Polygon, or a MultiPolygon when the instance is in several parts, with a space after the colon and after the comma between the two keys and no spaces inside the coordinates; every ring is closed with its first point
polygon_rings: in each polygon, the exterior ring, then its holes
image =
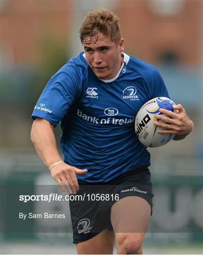
{"type": "Polygon", "coordinates": [[[73,243],[93,238],[104,229],[113,230],[111,207],[121,198],[139,196],[150,204],[152,185],[147,166],[133,168],[107,183],[79,184],[78,199],[70,201],[73,243]]]}

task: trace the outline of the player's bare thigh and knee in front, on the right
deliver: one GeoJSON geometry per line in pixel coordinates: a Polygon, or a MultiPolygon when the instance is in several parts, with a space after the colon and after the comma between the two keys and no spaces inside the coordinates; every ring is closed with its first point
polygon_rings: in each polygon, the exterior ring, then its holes
{"type": "Polygon", "coordinates": [[[118,247],[141,247],[151,214],[150,204],[138,196],[128,196],[115,202],[111,208],[111,223],[118,247]]]}

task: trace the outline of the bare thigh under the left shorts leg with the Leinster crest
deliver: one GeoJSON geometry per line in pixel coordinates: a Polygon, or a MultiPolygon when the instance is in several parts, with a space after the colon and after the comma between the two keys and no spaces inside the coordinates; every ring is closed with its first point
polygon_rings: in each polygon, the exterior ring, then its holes
{"type": "Polygon", "coordinates": [[[76,247],[78,254],[113,254],[114,242],[114,232],[105,229],[95,237],[76,244],[76,247]]]}

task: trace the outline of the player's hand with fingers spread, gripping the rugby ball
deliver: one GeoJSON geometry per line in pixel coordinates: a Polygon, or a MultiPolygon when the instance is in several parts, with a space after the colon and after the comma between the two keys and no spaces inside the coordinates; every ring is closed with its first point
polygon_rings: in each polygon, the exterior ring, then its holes
{"type": "Polygon", "coordinates": [[[184,138],[193,130],[193,122],[188,118],[185,109],[181,104],[173,106],[174,110],[169,111],[159,109],[165,115],[156,115],[156,118],[162,120],[164,123],[155,121],[154,124],[162,129],[158,129],[159,133],[176,134],[176,137],[184,138]]]}

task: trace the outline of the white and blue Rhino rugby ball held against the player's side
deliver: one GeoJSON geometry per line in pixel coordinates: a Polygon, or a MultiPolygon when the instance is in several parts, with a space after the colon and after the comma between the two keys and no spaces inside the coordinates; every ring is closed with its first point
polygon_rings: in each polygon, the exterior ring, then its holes
{"type": "Polygon", "coordinates": [[[135,118],[135,132],[144,146],[163,146],[175,137],[175,134],[158,133],[158,130],[163,128],[154,125],[154,121],[160,121],[155,115],[163,115],[159,109],[174,112],[173,105],[176,104],[170,99],[158,97],[147,101],[138,111],[135,118]]]}

